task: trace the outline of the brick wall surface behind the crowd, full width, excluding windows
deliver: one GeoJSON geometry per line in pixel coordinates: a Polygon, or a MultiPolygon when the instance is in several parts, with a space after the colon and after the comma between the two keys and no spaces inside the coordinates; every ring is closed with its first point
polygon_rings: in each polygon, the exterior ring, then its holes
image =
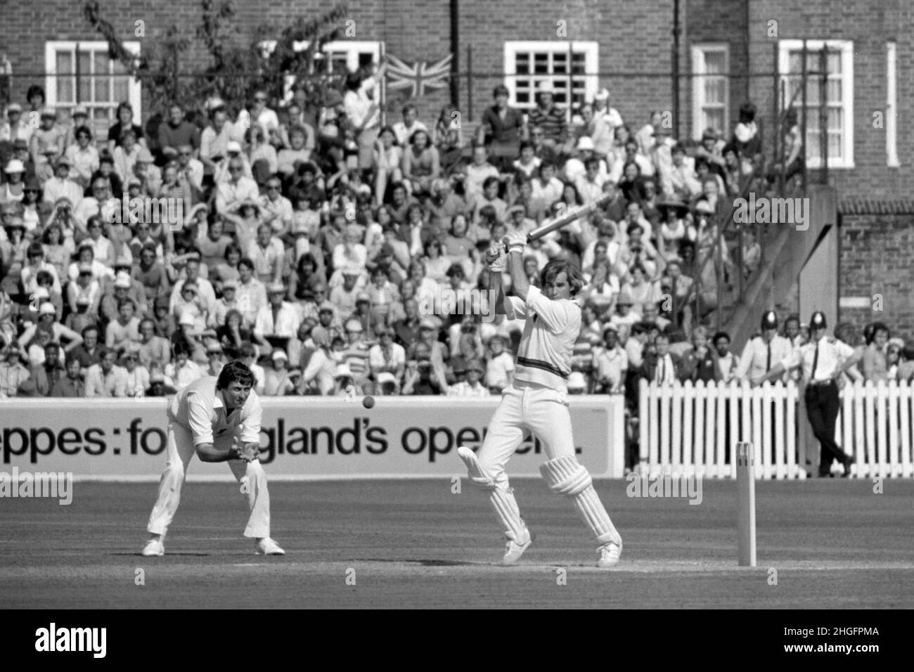
{"type": "MultiPolygon", "coordinates": [[[[312,16],[326,10],[328,3],[316,0],[248,0],[233,4],[239,42],[250,40],[254,27],[267,24],[277,32],[297,16],[312,16]]],[[[672,109],[671,29],[674,0],[643,0],[637,4],[622,0],[462,0],[460,3],[460,69],[467,67],[467,48],[473,51],[473,69],[482,73],[473,79],[473,117],[478,121],[491,104],[492,89],[503,79],[504,42],[515,39],[558,40],[557,21],[567,22],[569,40],[596,40],[600,45],[599,68],[606,74],[600,86],[611,91],[611,104],[635,128],[645,123],[651,110],[672,109]],[[623,74],[626,73],[626,74],[623,74]],[[632,73],[640,73],[632,75],[632,73]]],[[[914,69],[914,3],[909,0],[683,0],[681,67],[691,71],[689,45],[705,41],[726,41],[730,64],[735,72],[771,72],[774,68],[768,21],[778,22],[779,38],[853,39],[855,68],[855,159],[854,169],[835,169],[833,179],[839,197],[896,197],[906,193],[914,179],[909,156],[914,135],[905,133],[909,110],[914,107],[914,80],[906,73],[914,69]],[[898,155],[902,167],[886,166],[885,131],[873,128],[872,112],[884,109],[886,96],[885,42],[898,42],[898,155]],[[749,61],[747,62],[747,54],[749,61]]],[[[133,21],[143,19],[145,40],[154,42],[172,24],[192,28],[199,24],[197,0],[164,0],[150,5],[139,0],[106,0],[104,12],[124,38],[133,38],[133,21]]],[[[450,7],[446,0],[360,0],[350,2],[348,16],[356,21],[356,39],[383,40],[389,53],[404,59],[439,59],[450,45],[450,7]]],[[[80,2],[45,0],[41,3],[9,5],[0,31],[0,52],[5,52],[17,74],[14,97],[22,100],[27,86],[43,80],[37,73],[46,69],[45,42],[48,38],[98,39],[82,16],[80,2]]],[[[202,54],[191,52],[189,59],[202,54]]],[[[461,108],[466,110],[469,87],[459,81],[461,108]]],[[[691,80],[684,77],[680,87],[681,130],[691,134],[691,80]]],[[[760,107],[763,121],[771,123],[773,82],[771,77],[738,77],[730,83],[731,121],[736,121],[739,104],[751,100],[760,107]]],[[[441,105],[449,101],[447,89],[419,102],[420,116],[433,122],[441,105]]],[[[391,94],[388,110],[392,121],[399,119],[403,99],[391,94]]]]}

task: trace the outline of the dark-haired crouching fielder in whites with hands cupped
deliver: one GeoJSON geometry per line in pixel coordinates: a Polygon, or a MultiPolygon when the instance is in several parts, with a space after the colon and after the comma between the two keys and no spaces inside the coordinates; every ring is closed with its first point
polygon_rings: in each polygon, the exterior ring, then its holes
{"type": "Polygon", "coordinates": [[[248,497],[250,518],[244,536],[255,540],[259,555],[283,555],[270,539],[270,493],[257,458],[263,409],[252,391],[254,374],[230,362],[218,379],[206,376],[175,395],[168,406],[168,460],[159,497],[149,517],[150,538],[143,555],[165,554],[165,533],[181,501],[181,485],[194,453],[204,462],[228,462],[248,497]]]}

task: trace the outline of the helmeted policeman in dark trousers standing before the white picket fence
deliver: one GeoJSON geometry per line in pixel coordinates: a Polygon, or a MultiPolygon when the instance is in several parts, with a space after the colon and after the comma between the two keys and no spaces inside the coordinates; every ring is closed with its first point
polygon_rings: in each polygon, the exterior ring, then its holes
{"type": "Polygon", "coordinates": [[[856,460],[834,441],[834,422],[840,408],[837,380],[848,368],[856,365],[859,356],[853,347],[825,336],[825,327],[824,313],[813,313],[809,322],[810,342],[793,349],[786,367],[778,364],[775,369],[800,368],[802,371],[802,379],[806,383],[806,414],[815,438],[822,444],[819,475],[830,475],[832,462],[837,458],[845,466],[844,475],[848,476],[851,464],[856,460]]]}

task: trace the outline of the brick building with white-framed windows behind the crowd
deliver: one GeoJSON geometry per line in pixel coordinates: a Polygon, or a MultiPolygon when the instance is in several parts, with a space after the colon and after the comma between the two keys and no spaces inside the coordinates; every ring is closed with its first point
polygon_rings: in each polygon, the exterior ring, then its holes
{"type": "MultiPolygon", "coordinates": [[[[544,77],[555,80],[559,88],[573,79],[577,100],[608,88],[611,105],[633,129],[646,123],[653,110],[671,111],[676,5],[681,27],[680,137],[696,137],[707,119],[719,121],[720,130],[729,134],[737,122],[739,105],[746,100],[759,106],[762,128],[773,135],[774,73],[795,71],[799,40],[826,40],[824,44],[834,49],[828,96],[836,151],[829,162],[829,179],[842,204],[871,201],[866,207],[848,205],[839,215],[840,294],[885,296],[883,314],[867,317],[862,309],[848,309],[842,318],[880,318],[914,335],[914,293],[900,280],[908,267],[910,210],[883,214],[891,208],[880,205],[907,197],[914,179],[914,163],[909,158],[914,136],[902,133],[907,128],[906,112],[914,108],[914,81],[908,76],[914,65],[914,5],[907,0],[877,4],[866,0],[460,0],[458,107],[469,117],[468,127],[473,128],[491,103],[496,84],[505,83],[520,104],[526,100],[529,86],[544,77]],[[575,67],[586,68],[592,77],[578,72],[569,78],[569,48],[575,67]],[[466,76],[471,58],[472,81],[466,76]],[[890,59],[895,66],[894,99],[887,76],[890,59]],[[532,72],[524,75],[524,69],[532,72]],[[505,75],[511,71],[522,74],[505,75]],[[694,74],[704,74],[706,79],[695,80],[694,74]],[[703,110],[711,116],[703,116],[703,110]],[[876,123],[874,112],[882,113],[882,123],[876,123]],[[889,142],[892,133],[896,134],[894,153],[889,142]],[[898,165],[889,165],[893,154],[898,165]]],[[[327,11],[329,5],[314,0],[249,0],[235,2],[233,7],[239,29],[236,38],[245,44],[260,24],[275,26],[278,32],[290,17],[307,17],[309,10],[327,11]]],[[[201,15],[200,5],[194,1],[107,0],[102,9],[118,34],[138,42],[141,49],[144,40],[154,42],[173,24],[193,37],[201,15]],[[133,37],[134,21],[140,19],[145,37],[133,37]]],[[[356,35],[351,39],[369,51],[409,61],[434,61],[452,48],[452,5],[446,0],[359,0],[349,5],[347,16],[355,21],[356,35]]],[[[32,83],[49,88],[45,73],[76,67],[79,59],[74,58],[71,43],[99,39],[83,17],[81,3],[45,0],[7,5],[0,25],[0,54],[5,53],[13,68],[13,97],[23,101],[32,83]],[[56,50],[55,45],[60,48],[56,50]],[[60,55],[68,49],[69,57],[60,55]]],[[[817,43],[810,46],[821,47],[817,43]]],[[[345,46],[338,48],[345,50],[345,46]]],[[[103,51],[99,47],[97,53],[103,51]]],[[[188,59],[198,59],[200,64],[186,69],[205,67],[202,57],[202,49],[192,49],[188,59]]],[[[89,60],[96,58],[104,66],[103,57],[95,52],[89,60]]],[[[810,62],[818,63],[816,59],[810,62]]],[[[72,99],[76,89],[79,87],[59,93],[72,99]]],[[[66,107],[66,101],[60,95],[57,98],[53,102],[66,107]]],[[[811,91],[807,101],[811,105],[813,98],[811,91]]],[[[446,88],[423,97],[417,101],[420,118],[434,123],[449,100],[446,88]]],[[[391,120],[399,119],[402,101],[398,95],[388,95],[391,120]]],[[[143,116],[148,116],[148,107],[143,106],[143,116]]]]}

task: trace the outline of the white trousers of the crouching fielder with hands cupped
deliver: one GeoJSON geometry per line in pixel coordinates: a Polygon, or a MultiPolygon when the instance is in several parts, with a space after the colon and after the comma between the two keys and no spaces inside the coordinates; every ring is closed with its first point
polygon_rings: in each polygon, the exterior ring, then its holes
{"type": "MultiPolygon", "coordinates": [[[[215,447],[218,450],[228,450],[233,436],[219,437],[215,447]]],[[[185,429],[175,422],[168,423],[168,460],[165,463],[165,472],[159,481],[159,496],[149,516],[149,525],[146,529],[151,534],[165,536],[168,526],[181,501],[181,485],[187,464],[197,452],[194,448],[194,436],[190,430],[185,429]]],[[[244,528],[244,536],[253,539],[270,536],[270,492],[267,490],[267,475],[260,462],[250,464],[244,460],[229,460],[228,467],[239,481],[248,476],[248,507],[250,517],[248,526],[244,528]]]]}

